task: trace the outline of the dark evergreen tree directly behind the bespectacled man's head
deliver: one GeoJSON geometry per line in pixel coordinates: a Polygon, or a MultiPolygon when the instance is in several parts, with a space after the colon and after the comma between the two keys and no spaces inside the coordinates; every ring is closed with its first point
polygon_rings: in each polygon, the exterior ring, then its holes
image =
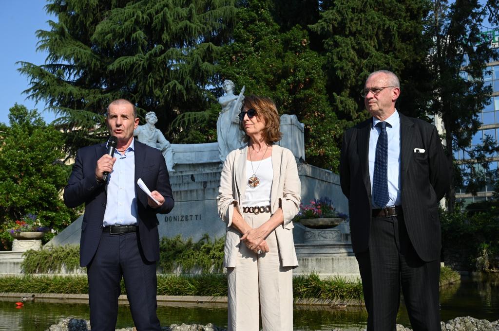
{"type": "Polygon", "coordinates": [[[396,73],[402,94],[398,108],[419,116],[431,94],[426,63],[430,40],[423,34],[427,0],[331,0],[312,31],[322,36],[333,108],[347,119],[368,117],[359,91],[379,69],[396,73]]]}

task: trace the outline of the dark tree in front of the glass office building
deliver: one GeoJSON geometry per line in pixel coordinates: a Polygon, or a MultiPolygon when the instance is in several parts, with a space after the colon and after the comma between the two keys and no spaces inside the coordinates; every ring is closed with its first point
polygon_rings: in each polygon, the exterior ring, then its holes
{"type": "Polygon", "coordinates": [[[481,125],[478,113],[490,102],[492,93],[491,87],[484,84],[484,69],[490,59],[498,59],[490,38],[481,33],[482,23],[489,16],[489,21],[498,25],[498,6],[496,0],[485,4],[475,0],[432,2],[426,31],[434,42],[428,57],[434,84],[431,112],[442,117],[449,164],[454,160],[453,150],[458,149],[466,150],[475,159],[450,167],[453,182],[447,198],[451,212],[455,186],[462,185],[471,192],[483,186],[488,162],[496,150],[496,143],[490,139],[483,146],[470,146],[481,125]]]}

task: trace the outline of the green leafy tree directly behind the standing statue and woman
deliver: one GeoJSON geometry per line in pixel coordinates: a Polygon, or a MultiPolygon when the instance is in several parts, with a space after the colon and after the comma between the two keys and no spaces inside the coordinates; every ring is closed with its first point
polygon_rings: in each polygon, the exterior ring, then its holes
{"type": "Polygon", "coordinates": [[[245,85],[246,94],[272,98],[280,113],[297,115],[305,125],[307,162],[336,170],[341,123],[327,100],[324,59],[310,50],[300,26],[279,32],[270,4],[249,1],[239,11],[233,42],[220,60],[220,83],[231,79],[239,89],[245,85]]]}

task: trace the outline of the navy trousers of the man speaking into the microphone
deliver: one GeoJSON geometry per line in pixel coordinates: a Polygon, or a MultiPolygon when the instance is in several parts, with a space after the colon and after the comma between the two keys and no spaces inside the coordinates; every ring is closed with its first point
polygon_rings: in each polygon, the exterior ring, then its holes
{"type": "Polygon", "coordinates": [[[138,232],[102,233],[87,277],[92,331],[116,329],[122,277],[137,330],[161,331],[156,315],[156,262],[144,258],[138,232]]]}

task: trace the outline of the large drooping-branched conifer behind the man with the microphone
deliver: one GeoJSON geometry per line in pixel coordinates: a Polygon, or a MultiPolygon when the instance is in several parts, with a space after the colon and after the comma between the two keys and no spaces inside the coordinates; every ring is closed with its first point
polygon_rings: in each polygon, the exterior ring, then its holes
{"type": "Polygon", "coordinates": [[[50,0],[46,8],[58,19],[37,31],[46,63],[21,62],[19,71],[30,78],[29,98],[70,129],[70,154],[101,139],[113,99],[155,111],[163,131],[178,114],[208,108],[205,87],[234,23],[234,0],[50,0]]]}

